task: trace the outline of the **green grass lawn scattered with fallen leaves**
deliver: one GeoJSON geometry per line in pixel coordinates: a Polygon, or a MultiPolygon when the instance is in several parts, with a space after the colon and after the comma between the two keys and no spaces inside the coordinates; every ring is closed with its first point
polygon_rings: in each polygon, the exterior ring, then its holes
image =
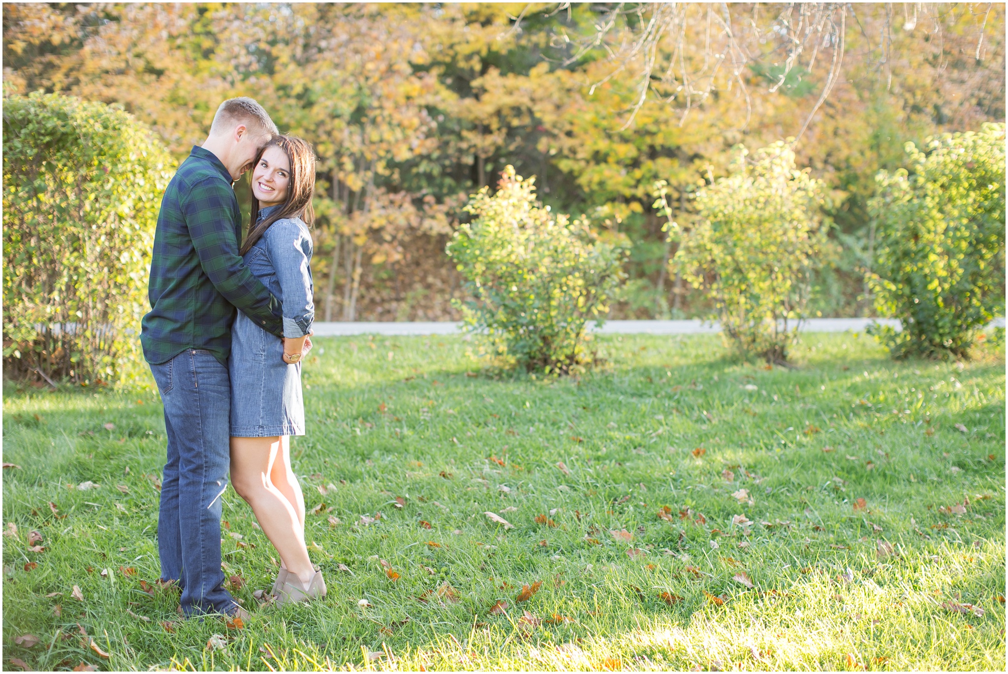
{"type": "Polygon", "coordinates": [[[331,511],[306,532],[329,596],[258,605],[276,555],[229,491],[241,631],[180,622],[176,595],[141,589],[158,575],[156,394],[8,385],[4,461],[21,467],[4,470],[4,667],[1003,670],[1002,356],[897,363],[864,337],[806,335],[795,368],[767,370],[711,337],[599,345],[605,368],[543,379],[477,374],[458,337],[318,340],[292,451],[308,509],[331,511]],[[74,487],[86,480],[101,486],[74,487]],[[27,551],[31,530],[44,552],[27,551]],[[458,600],[430,592],[445,583],[458,600]],[[25,634],[39,644],[15,645],[25,634]],[[214,634],[225,650],[207,648],[214,634]]]}

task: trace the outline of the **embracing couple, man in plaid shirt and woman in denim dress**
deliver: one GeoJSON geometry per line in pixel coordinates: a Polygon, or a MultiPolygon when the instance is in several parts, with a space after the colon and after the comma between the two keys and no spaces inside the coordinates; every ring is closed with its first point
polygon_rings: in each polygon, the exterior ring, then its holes
{"type": "Polygon", "coordinates": [[[289,437],[304,434],[301,359],[311,348],[314,155],[250,98],[225,101],[172,178],[157,218],[143,353],[164,404],[167,462],[157,545],[186,615],[247,617],[224,587],[228,475],[282,560],[277,602],[326,594],[304,546],[289,437]],[[242,232],[233,189],[251,171],[242,232]]]}

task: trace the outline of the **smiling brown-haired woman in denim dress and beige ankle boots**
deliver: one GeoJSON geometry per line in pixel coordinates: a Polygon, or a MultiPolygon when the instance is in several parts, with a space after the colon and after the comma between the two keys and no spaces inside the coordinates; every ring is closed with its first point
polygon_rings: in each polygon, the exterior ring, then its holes
{"type": "Polygon", "coordinates": [[[301,365],[314,318],[311,234],[314,155],[277,136],[252,171],[252,218],[239,252],[283,305],[283,339],[238,312],[231,346],[231,482],[255,513],[282,563],[277,603],[326,595],[304,547],[304,498],[290,468],[289,438],[304,435],[301,365]]]}

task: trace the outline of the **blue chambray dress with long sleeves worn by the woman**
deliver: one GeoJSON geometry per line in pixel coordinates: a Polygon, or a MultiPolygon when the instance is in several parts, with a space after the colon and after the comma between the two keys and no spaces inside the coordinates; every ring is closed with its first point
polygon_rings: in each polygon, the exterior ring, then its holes
{"type": "MultiPolygon", "coordinates": [[[[265,218],[271,206],[259,211],[265,218]]],[[[249,270],[283,305],[284,337],[308,334],[311,300],[311,234],[300,218],[277,220],[243,256],[249,270]]],[[[304,435],[301,363],[283,361],[283,342],[242,312],[231,334],[231,435],[269,438],[304,435]]]]}

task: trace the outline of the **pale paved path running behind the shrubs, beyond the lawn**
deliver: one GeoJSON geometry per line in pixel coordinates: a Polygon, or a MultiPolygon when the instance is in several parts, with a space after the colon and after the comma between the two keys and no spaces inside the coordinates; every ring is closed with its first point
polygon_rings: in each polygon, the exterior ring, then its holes
{"type": "MultiPolygon", "coordinates": [[[[802,332],[864,332],[871,323],[891,325],[897,330],[900,323],[896,319],[872,318],[810,318],[801,326],[802,332]]],[[[381,322],[381,323],[322,323],[313,324],[319,337],[341,335],[451,335],[459,331],[461,323],[453,322],[381,322]]],[[[1005,327],[1004,318],[996,318],[992,325],[1005,327]]],[[[607,321],[601,330],[589,323],[589,329],[601,334],[651,334],[651,335],[697,335],[721,332],[717,323],[703,321],[607,321]]]]}

